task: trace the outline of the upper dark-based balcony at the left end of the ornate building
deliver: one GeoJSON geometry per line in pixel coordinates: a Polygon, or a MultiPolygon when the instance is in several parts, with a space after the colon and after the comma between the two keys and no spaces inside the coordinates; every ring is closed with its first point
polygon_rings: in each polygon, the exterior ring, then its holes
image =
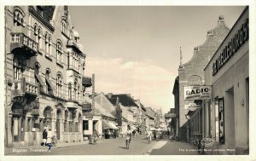
{"type": "Polygon", "coordinates": [[[27,57],[38,53],[38,43],[26,36],[26,29],[22,26],[12,28],[10,50],[14,54],[24,54],[27,57]]]}

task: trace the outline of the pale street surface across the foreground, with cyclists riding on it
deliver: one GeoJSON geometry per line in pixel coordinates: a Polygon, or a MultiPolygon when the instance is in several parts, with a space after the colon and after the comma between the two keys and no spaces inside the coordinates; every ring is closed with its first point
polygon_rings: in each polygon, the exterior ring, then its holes
{"type": "MultiPolygon", "coordinates": [[[[196,152],[183,152],[192,149],[188,143],[171,142],[168,140],[151,141],[149,144],[145,135],[131,138],[130,148],[125,148],[125,137],[117,139],[98,140],[96,144],[84,143],[70,147],[53,147],[51,152],[47,147],[24,147],[23,152],[11,152],[7,155],[195,155],[196,152]]],[[[22,151],[23,147],[17,147],[22,151]]]]}

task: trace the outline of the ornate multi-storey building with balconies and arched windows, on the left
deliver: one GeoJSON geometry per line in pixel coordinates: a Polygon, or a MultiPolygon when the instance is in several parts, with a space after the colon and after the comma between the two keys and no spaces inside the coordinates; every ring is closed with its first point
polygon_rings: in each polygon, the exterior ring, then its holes
{"type": "Polygon", "coordinates": [[[38,145],[44,128],[83,141],[91,78],[68,7],[6,6],[5,20],[5,146],[38,145]]]}

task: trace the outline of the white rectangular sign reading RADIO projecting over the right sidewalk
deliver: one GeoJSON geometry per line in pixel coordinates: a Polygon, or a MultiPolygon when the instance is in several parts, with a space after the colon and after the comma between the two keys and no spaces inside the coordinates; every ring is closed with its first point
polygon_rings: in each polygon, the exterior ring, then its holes
{"type": "Polygon", "coordinates": [[[210,100],[212,98],[211,86],[184,87],[184,100],[210,100]]]}

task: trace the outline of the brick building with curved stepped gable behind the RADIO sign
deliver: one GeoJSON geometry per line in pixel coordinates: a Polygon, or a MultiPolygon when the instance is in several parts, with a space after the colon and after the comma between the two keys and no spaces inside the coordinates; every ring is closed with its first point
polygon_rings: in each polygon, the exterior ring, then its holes
{"type": "Polygon", "coordinates": [[[178,125],[176,132],[178,139],[181,141],[188,141],[189,139],[189,129],[187,130],[188,118],[186,118],[186,115],[189,110],[195,110],[190,109],[190,105],[195,104],[194,101],[184,100],[184,87],[205,83],[203,70],[229,31],[230,29],[225,26],[224,17],[219,16],[218,25],[207,32],[206,42],[195,47],[192,59],[185,64],[181,62],[178,68],[178,77],[175,80],[172,93],[175,97],[175,108],[178,108],[178,110],[175,110],[177,112],[176,120],[178,125]]]}

